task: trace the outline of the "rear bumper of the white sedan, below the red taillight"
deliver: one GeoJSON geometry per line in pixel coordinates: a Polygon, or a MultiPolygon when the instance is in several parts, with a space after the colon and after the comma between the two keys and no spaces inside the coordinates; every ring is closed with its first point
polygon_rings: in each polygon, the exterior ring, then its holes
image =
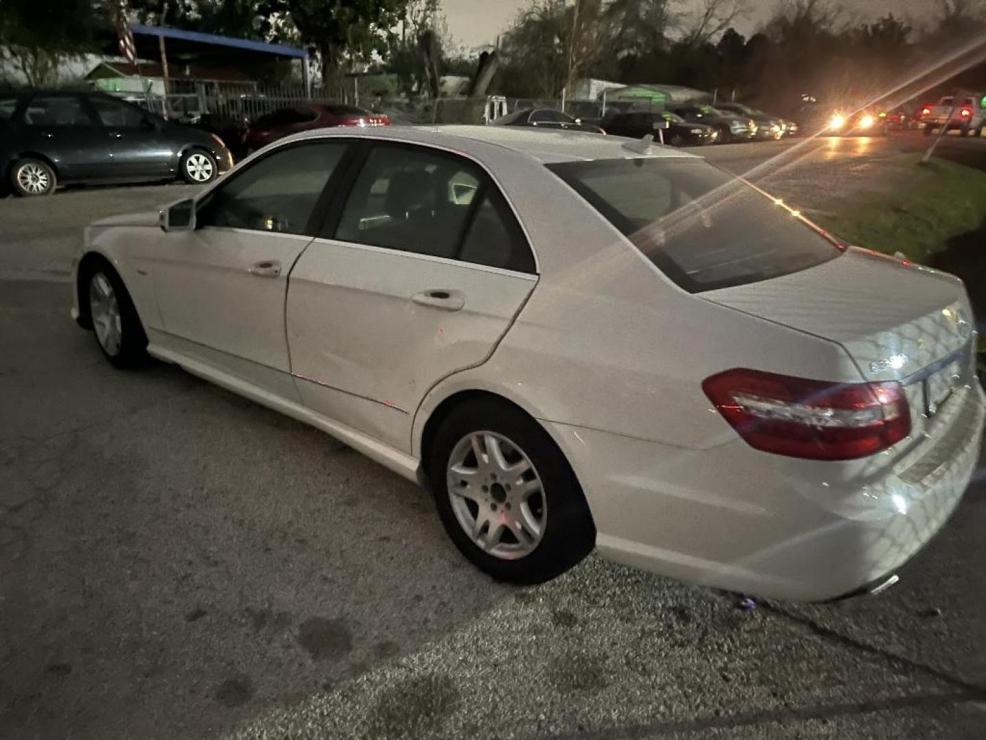
{"type": "Polygon", "coordinates": [[[883,454],[845,466],[740,439],[690,450],[548,426],[586,490],[600,555],[730,591],[827,601],[893,573],[948,519],[986,415],[978,384],[961,403],[930,450],[890,473],[883,454]]]}

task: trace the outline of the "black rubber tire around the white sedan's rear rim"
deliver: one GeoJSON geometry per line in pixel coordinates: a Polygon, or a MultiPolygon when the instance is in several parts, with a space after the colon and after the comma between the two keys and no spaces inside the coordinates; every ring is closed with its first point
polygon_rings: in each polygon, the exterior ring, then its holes
{"type": "MultiPolygon", "coordinates": [[[[431,450],[428,478],[439,516],[459,552],[483,572],[508,583],[543,583],[592,552],[596,527],[579,481],[550,435],[521,409],[495,399],[463,403],[443,420],[431,450]],[[459,524],[449,494],[449,461],[459,441],[477,431],[493,432],[515,443],[540,478],[545,504],[543,532],[527,555],[515,559],[491,555],[459,524]]],[[[490,506],[494,506],[492,500],[490,506]]]]}

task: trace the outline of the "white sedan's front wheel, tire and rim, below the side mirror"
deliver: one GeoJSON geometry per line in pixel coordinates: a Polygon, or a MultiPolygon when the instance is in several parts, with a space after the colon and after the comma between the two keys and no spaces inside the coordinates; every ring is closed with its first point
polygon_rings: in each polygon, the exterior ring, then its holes
{"type": "Polygon", "coordinates": [[[96,265],[89,274],[87,297],[96,343],[106,359],[121,369],[143,360],[147,335],[119,275],[96,265]]]}

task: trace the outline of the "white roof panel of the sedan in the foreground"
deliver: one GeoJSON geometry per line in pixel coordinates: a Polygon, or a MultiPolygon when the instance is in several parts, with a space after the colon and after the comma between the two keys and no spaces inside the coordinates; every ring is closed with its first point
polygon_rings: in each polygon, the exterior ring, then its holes
{"type": "Polygon", "coordinates": [[[376,129],[317,128],[289,136],[284,141],[327,136],[359,136],[387,141],[446,146],[480,158],[484,145],[498,146],[526,155],[543,164],[598,159],[677,158],[701,159],[672,147],[653,146],[646,154],[627,149],[623,137],[579,131],[545,130],[527,126],[384,126],[376,129]]]}

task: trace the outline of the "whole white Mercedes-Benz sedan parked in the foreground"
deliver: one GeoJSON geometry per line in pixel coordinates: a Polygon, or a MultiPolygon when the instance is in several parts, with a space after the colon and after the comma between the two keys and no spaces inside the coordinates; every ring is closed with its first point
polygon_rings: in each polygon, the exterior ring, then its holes
{"type": "Polygon", "coordinates": [[[427,483],[463,555],[599,554],[783,599],[875,590],[979,452],[962,283],[670,148],[307,132],[90,226],[73,316],[427,483]]]}

